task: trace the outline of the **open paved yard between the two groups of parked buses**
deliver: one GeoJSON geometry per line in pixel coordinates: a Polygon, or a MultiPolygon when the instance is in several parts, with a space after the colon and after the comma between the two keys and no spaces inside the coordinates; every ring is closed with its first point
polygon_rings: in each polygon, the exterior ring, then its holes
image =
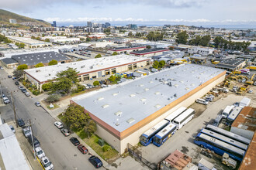
{"type": "MultiPolygon", "coordinates": [[[[256,87],[251,86],[252,89],[256,90],[256,87]]],[[[256,107],[256,97],[254,93],[246,93],[246,97],[251,98],[251,107],[256,107]]],[[[205,158],[209,162],[212,162],[217,169],[228,169],[225,165],[221,164],[220,158],[206,158],[206,156],[200,154],[200,147],[194,144],[194,138],[198,132],[205,127],[207,124],[212,124],[217,114],[221,114],[223,109],[227,105],[232,105],[235,102],[239,102],[244,96],[238,96],[232,92],[223,93],[219,99],[210,102],[208,106],[202,104],[192,104],[192,108],[195,109],[195,117],[188,124],[178,130],[171,138],[168,139],[157,147],[155,145],[142,146],[139,150],[142,152],[142,157],[146,158],[147,161],[157,164],[164,158],[171,154],[171,152],[178,149],[186,155],[192,157],[192,162],[195,165],[198,164],[200,158],[205,158]],[[205,110],[206,109],[206,110],[205,110]]]]}

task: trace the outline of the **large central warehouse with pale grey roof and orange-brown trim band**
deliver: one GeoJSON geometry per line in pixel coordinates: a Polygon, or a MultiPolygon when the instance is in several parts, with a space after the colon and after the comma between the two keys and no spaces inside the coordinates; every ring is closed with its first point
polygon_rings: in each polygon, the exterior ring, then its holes
{"type": "Polygon", "coordinates": [[[101,138],[123,153],[179,107],[189,107],[225,79],[225,70],[182,64],[71,99],[85,108],[101,138]]]}

